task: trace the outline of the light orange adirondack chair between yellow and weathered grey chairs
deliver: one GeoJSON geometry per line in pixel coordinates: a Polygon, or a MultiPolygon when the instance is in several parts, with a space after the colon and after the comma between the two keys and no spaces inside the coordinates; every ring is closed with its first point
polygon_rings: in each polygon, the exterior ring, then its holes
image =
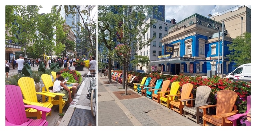
{"type": "MultiPolygon", "coordinates": [[[[192,89],[193,89],[193,84],[187,83],[182,86],[180,95],[169,95],[168,96],[168,97],[170,97],[169,99],[171,99],[170,104],[171,104],[171,109],[173,111],[176,111],[176,112],[180,113],[180,115],[182,115],[184,103],[181,100],[192,99],[193,98],[193,94],[191,93],[192,89]],[[175,96],[178,96],[178,100],[174,100],[175,96]],[[176,107],[176,108],[174,108],[174,107],[176,107]]],[[[193,100],[191,100],[191,103],[193,104],[193,100]]],[[[188,104],[186,101],[186,106],[191,106],[191,105],[188,104]]]]}

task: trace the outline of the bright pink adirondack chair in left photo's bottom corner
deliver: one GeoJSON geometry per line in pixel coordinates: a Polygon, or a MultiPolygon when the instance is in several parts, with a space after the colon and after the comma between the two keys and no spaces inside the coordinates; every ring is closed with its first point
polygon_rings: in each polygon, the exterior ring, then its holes
{"type": "Polygon", "coordinates": [[[6,85],[6,126],[47,126],[46,112],[50,111],[51,108],[24,105],[20,87],[6,85]],[[35,120],[27,118],[25,108],[42,111],[42,118],[35,120]]]}

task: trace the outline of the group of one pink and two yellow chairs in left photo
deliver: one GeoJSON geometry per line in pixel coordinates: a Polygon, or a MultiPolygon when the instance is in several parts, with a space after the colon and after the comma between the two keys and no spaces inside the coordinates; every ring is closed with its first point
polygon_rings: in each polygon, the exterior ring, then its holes
{"type": "Polygon", "coordinates": [[[6,126],[47,126],[46,117],[51,116],[54,105],[59,105],[59,113],[62,113],[63,107],[68,103],[62,99],[65,94],[50,92],[49,87],[54,83],[50,75],[43,74],[41,78],[45,85],[42,92],[35,91],[34,80],[30,77],[21,77],[18,86],[6,85],[6,126]],[[37,94],[42,95],[42,102],[37,100],[37,94]],[[59,100],[53,99],[56,95],[59,100]]]}

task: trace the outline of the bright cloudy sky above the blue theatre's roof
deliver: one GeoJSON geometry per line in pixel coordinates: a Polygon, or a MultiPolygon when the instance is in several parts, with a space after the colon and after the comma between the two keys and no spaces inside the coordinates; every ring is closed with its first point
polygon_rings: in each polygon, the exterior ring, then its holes
{"type": "MultiPolygon", "coordinates": [[[[195,13],[206,17],[208,14],[215,16],[235,11],[240,6],[242,5],[165,5],[165,19],[175,19],[178,23],[195,13]]],[[[250,5],[246,6],[250,8],[250,5]]]]}

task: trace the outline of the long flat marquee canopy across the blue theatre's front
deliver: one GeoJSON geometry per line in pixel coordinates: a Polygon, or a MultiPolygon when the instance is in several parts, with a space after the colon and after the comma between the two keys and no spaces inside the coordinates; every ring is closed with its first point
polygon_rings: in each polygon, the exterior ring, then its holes
{"type": "Polygon", "coordinates": [[[158,64],[165,64],[165,63],[174,64],[174,63],[182,63],[182,62],[194,62],[194,59],[188,58],[188,57],[172,57],[167,59],[150,61],[150,63],[158,63],[158,64]]]}

